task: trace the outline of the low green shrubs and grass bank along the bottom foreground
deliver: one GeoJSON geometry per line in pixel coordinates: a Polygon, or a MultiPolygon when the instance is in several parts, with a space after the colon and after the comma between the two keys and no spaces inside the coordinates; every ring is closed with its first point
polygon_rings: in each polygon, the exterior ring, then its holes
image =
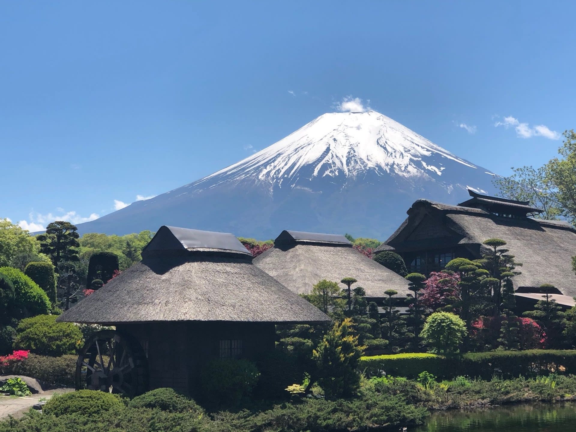
{"type": "Polygon", "coordinates": [[[66,414],[30,412],[22,419],[4,420],[0,432],[398,430],[423,423],[431,410],[573,399],[576,376],[571,375],[436,381],[424,374],[418,381],[393,377],[363,380],[353,399],[329,401],[316,395],[281,404],[251,404],[235,412],[209,413],[193,402],[162,400],[154,404],[153,398],[146,404],[122,401],[96,412],[92,406],[86,410],[71,404],[66,414]]]}

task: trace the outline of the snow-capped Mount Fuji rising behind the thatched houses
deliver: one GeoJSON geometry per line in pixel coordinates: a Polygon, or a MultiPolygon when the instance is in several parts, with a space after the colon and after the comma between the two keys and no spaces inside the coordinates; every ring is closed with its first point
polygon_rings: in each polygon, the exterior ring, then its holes
{"type": "Polygon", "coordinates": [[[418,198],[494,192],[494,173],[376,111],[326,113],[210,176],[138,201],[79,233],[126,234],[161,225],[260,240],[283,229],[385,240],[418,198]]]}

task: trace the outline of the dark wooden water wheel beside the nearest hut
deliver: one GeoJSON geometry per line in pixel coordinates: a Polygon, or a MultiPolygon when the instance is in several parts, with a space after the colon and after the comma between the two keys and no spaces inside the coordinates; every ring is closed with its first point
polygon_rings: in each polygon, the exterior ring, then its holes
{"type": "Polygon", "coordinates": [[[76,362],[76,389],[121,393],[128,397],[148,390],[148,364],[137,340],[115,330],[92,335],[76,362]]]}

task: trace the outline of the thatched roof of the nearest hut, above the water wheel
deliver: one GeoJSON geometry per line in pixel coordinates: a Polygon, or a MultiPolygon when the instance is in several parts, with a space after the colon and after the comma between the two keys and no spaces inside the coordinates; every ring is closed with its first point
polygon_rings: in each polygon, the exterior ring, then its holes
{"type": "Polygon", "coordinates": [[[58,321],[329,321],[252,264],[252,255],[232,234],[163,226],[142,255],[142,262],[64,312],[58,321]]]}

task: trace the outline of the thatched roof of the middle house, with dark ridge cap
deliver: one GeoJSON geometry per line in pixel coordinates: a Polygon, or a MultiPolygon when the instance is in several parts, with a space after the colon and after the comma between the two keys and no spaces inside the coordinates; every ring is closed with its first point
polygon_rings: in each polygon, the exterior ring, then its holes
{"type": "Polygon", "coordinates": [[[362,286],[366,297],[374,300],[385,298],[388,289],[400,297],[410,292],[406,279],[355,251],[346,237],[336,234],[285,230],[274,240],[274,248],[257,256],[254,264],[298,294],[309,293],[322,279],[340,282],[345,277],[357,279],[354,286],[362,286]]]}

